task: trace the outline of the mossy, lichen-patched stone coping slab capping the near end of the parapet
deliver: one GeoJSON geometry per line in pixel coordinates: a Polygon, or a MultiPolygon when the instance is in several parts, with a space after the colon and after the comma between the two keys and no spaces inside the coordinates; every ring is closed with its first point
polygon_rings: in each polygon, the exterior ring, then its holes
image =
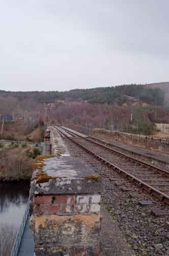
{"type": "Polygon", "coordinates": [[[98,175],[78,157],[41,156],[37,158],[31,194],[96,194],[98,175]]]}

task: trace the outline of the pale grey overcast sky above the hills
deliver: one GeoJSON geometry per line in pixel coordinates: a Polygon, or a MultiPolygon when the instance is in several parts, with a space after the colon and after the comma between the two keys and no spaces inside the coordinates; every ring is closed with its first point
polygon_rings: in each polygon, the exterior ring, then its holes
{"type": "Polygon", "coordinates": [[[168,0],[0,0],[0,89],[169,81],[168,0]]]}

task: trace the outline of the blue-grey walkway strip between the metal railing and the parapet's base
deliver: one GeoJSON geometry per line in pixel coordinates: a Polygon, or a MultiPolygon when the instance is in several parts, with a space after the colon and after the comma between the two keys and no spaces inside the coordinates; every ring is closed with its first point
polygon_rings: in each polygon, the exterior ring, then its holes
{"type": "Polygon", "coordinates": [[[30,228],[30,217],[26,221],[18,256],[34,256],[34,239],[30,228]]]}

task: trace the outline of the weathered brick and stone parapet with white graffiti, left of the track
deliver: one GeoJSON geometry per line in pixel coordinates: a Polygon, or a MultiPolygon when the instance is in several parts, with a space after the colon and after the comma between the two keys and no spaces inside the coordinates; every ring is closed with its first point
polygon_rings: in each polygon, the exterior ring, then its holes
{"type": "Polygon", "coordinates": [[[98,176],[80,158],[64,152],[66,147],[57,132],[52,131],[52,136],[59,145],[53,148],[55,156],[39,157],[31,183],[36,256],[98,256],[98,176]]]}

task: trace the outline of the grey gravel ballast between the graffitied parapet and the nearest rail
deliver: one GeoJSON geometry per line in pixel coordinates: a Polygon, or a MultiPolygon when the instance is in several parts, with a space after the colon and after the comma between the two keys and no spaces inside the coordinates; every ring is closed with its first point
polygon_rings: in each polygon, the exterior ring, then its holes
{"type": "Polygon", "coordinates": [[[68,140],[66,144],[70,154],[82,158],[101,179],[102,255],[169,255],[168,216],[154,217],[151,213],[154,208],[169,210],[169,206],[152,198],[77,145],[68,140]],[[133,192],[137,192],[138,197],[132,196],[133,192]],[[155,205],[142,206],[140,200],[151,200],[155,205]]]}

